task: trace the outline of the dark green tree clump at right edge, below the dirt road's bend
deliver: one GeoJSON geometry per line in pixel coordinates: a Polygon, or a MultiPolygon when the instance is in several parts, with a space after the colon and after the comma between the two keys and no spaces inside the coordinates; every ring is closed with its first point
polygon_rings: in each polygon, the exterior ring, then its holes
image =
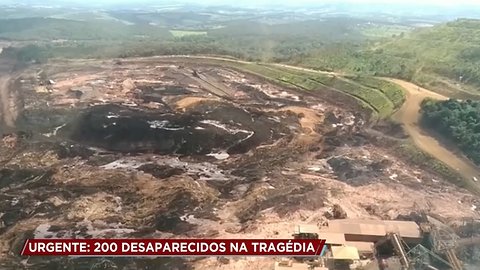
{"type": "Polygon", "coordinates": [[[480,164],[479,101],[425,100],[422,123],[453,141],[467,157],[480,164]]]}

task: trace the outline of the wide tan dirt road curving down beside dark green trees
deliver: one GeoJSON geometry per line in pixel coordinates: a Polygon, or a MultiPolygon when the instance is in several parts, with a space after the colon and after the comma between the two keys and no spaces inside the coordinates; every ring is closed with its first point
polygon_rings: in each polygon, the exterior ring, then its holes
{"type": "Polygon", "coordinates": [[[388,79],[406,91],[406,100],[394,118],[402,122],[414,143],[423,151],[436,157],[438,160],[456,169],[462,176],[472,181],[473,176],[480,175],[480,169],[462,155],[453,153],[443,146],[437,139],[428,135],[418,126],[420,119],[420,104],[425,98],[445,100],[448,97],[419,87],[413,83],[398,79],[388,79]]]}

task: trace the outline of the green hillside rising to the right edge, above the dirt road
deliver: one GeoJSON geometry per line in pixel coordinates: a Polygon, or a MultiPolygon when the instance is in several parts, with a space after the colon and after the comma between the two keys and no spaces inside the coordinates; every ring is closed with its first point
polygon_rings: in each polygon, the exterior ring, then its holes
{"type": "Polygon", "coordinates": [[[398,77],[449,94],[458,85],[475,91],[480,87],[480,20],[459,19],[363,46],[337,44],[312,52],[300,63],[398,77]]]}

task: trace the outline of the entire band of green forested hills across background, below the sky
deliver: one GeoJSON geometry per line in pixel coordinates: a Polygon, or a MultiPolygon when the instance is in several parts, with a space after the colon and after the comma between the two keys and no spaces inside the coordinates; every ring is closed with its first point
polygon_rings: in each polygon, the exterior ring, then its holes
{"type": "MultiPolygon", "coordinates": [[[[295,21],[280,14],[255,17],[223,11],[101,11],[89,15],[43,10],[37,11],[44,13],[43,17],[17,14],[24,12],[0,11],[8,18],[0,20],[0,39],[35,41],[47,57],[218,54],[395,77],[460,98],[479,94],[480,20],[457,20],[410,31],[413,26],[407,22],[348,17],[295,21]]],[[[398,106],[399,96],[388,98],[398,106]]]]}

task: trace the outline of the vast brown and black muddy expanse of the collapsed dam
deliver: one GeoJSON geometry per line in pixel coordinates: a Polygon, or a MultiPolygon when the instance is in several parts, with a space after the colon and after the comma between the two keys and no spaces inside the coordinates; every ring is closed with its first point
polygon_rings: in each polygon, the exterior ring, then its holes
{"type": "MultiPolygon", "coordinates": [[[[479,224],[478,197],[405,159],[393,147],[408,137],[402,128],[373,121],[341,92],[286,87],[188,57],[55,60],[4,76],[5,269],[274,265],[272,258],[22,258],[27,238],[290,238],[298,224],[321,238],[332,220],[420,225],[426,213],[460,239],[479,224]]],[[[467,260],[476,248],[459,247],[457,256],[467,260]]]]}

